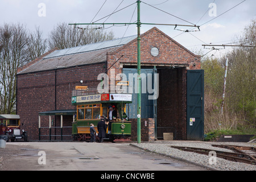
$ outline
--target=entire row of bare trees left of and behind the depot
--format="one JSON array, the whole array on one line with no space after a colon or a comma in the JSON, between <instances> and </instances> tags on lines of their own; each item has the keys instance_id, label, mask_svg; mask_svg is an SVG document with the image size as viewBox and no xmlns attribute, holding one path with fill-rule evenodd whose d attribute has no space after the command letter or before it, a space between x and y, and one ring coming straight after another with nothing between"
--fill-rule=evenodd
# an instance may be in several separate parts
<instances>
[{"instance_id":1,"label":"entire row of bare trees left of and behind the depot","mask_svg":"<svg viewBox=\"0 0 256 182\"><path fill-rule=\"evenodd\" d=\"M0 114L15 112L16 73L19 67L43 55L47 49L64 49L114 38L112 31L81 30L66 23L59 23L48 40L43 39L42 34L39 27L29 32L19 23L0 26Z\"/></svg>"}]
</instances>

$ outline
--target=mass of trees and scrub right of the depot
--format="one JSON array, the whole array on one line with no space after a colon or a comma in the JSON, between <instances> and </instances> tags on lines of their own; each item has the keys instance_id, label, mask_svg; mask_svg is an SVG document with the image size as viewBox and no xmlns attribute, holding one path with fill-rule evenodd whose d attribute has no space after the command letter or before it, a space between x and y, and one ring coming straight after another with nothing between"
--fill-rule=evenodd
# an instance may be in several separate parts
<instances>
[{"instance_id":1,"label":"mass of trees and scrub right of the depot","mask_svg":"<svg viewBox=\"0 0 256 182\"><path fill-rule=\"evenodd\" d=\"M256 46L256 19L245 27L235 44ZM224 113L220 100L224 84L224 68L228 56L228 74ZM256 48L236 47L220 60L206 59L205 72L205 131L215 129L256 128Z\"/></svg>"}]
</instances>

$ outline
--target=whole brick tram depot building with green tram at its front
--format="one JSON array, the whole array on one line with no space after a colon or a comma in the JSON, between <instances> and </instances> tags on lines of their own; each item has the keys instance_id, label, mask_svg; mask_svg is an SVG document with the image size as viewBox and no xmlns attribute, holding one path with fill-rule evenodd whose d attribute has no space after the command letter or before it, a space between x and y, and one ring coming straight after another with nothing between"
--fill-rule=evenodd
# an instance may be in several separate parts
<instances>
[{"instance_id":1,"label":"whole brick tram depot building with green tram at its front","mask_svg":"<svg viewBox=\"0 0 256 182\"><path fill-rule=\"evenodd\" d=\"M106 93L97 90L102 73L110 79ZM127 81L116 80L120 73ZM117 118L108 125L108 137L136 141L137 92L111 92L113 83L134 85L136 78L129 74L135 73L137 35L55 48L18 68L16 114L28 140L87 140L90 123L97 127L100 115L109 117L114 106ZM141 35L141 73L144 81L152 84L150 88L158 86L157 99L148 99L152 96L148 89L141 96L141 140L163 139L163 133L172 133L175 140L202 139L204 75L200 56L154 27ZM158 82L154 81L156 74Z\"/></svg>"}]
</instances>

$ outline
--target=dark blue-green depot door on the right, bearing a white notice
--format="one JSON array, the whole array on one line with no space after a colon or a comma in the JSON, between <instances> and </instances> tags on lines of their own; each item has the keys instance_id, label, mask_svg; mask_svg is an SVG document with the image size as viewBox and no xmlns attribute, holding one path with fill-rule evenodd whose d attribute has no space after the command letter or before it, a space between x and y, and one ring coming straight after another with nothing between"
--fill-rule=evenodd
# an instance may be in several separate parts
<instances>
[{"instance_id":1,"label":"dark blue-green depot door on the right, bearing a white notice","mask_svg":"<svg viewBox=\"0 0 256 182\"><path fill-rule=\"evenodd\" d=\"M204 139L204 70L187 71L187 139Z\"/></svg>"}]
</instances>

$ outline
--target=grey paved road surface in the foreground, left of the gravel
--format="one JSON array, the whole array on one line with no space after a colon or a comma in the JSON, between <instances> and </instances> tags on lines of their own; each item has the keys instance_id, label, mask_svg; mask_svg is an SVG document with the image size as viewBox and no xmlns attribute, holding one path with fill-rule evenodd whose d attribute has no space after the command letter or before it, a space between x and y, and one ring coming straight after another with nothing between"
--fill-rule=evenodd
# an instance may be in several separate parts
<instances>
[{"instance_id":1,"label":"grey paved road surface in the foreground, left of the gravel","mask_svg":"<svg viewBox=\"0 0 256 182\"><path fill-rule=\"evenodd\" d=\"M0 148L0 171L191 171L206 170L151 154L129 143L13 142ZM46 162L46 164L44 164Z\"/></svg>"}]
</instances>

